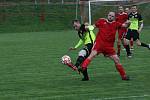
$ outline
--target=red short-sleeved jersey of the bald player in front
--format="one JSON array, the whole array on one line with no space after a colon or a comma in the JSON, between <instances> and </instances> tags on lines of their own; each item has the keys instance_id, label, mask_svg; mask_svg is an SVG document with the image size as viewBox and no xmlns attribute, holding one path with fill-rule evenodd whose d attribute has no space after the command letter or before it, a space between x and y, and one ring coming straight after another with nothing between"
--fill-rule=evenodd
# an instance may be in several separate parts
<instances>
[{"instance_id":1,"label":"red short-sleeved jersey of the bald player in front","mask_svg":"<svg viewBox=\"0 0 150 100\"><path fill-rule=\"evenodd\" d=\"M112 21L109 22L107 19L101 18L95 23L99 32L96 36L96 41L103 43L105 46L114 46L116 31L122 26L121 23Z\"/></svg>"}]
</instances>

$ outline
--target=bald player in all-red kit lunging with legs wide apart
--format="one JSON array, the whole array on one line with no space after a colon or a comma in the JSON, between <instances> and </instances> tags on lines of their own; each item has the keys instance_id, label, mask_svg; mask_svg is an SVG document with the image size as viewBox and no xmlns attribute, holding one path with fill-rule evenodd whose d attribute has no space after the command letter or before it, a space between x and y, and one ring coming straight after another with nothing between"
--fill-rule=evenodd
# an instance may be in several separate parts
<instances>
[{"instance_id":1,"label":"bald player in all-red kit lunging with legs wide apart","mask_svg":"<svg viewBox=\"0 0 150 100\"><path fill-rule=\"evenodd\" d=\"M121 75L122 80L129 80L123 66L120 63L114 49L115 35L119 27L128 27L129 22L121 24L115 21L115 13L109 12L107 19L100 18L95 26L99 29L97 33L95 43L93 45L91 54L82 63L82 70L85 70L90 64L91 60L97 55L102 53L104 56L109 57L115 63L116 69Z\"/></svg>"}]
</instances>

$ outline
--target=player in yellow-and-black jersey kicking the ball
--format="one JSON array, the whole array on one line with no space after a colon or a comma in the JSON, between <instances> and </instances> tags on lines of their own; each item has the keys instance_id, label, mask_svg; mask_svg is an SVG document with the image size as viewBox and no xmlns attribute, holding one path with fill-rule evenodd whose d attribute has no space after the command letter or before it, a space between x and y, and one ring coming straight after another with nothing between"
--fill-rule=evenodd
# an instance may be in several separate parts
<instances>
[{"instance_id":1,"label":"player in yellow-and-black jersey kicking the ball","mask_svg":"<svg viewBox=\"0 0 150 100\"><path fill-rule=\"evenodd\" d=\"M95 34L93 32L94 26L89 25L88 23L80 24L79 20L73 20L73 27L78 32L80 39L79 42L74 47L69 48L69 50L76 50L81 46L83 46L83 48L78 53L76 63L74 65L72 63L67 65L73 69L77 68L79 70L79 66L91 53L91 49L95 41ZM87 69L84 70L82 74L84 76L82 79L83 81L89 80Z\"/></svg>"}]
</instances>

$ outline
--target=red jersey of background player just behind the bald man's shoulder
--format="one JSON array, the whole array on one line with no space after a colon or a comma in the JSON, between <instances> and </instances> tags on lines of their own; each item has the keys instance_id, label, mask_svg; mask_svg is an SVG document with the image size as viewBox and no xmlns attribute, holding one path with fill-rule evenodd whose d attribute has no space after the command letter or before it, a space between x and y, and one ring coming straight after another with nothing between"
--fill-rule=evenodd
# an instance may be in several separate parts
<instances>
[{"instance_id":1,"label":"red jersey of background player just behind the bald man's shoulder","mask_svg":"<svg viewBox=\"0 0 150 100\"><path fill-rule=\"evenodd\" d=\"M116 14L116 21L123 24L124 22L126 22L128 19L128 14L125 12L122 13L117 13Z\"/></svg>"}]
</instances>

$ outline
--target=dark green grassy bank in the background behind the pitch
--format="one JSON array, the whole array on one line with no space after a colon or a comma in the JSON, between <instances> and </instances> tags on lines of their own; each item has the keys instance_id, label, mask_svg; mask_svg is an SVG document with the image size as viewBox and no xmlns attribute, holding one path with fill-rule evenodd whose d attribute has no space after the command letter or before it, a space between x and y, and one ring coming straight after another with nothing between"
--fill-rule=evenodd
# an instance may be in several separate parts
<instances>
[{"instance_id":1,"label":"dark green grassy bank in the background behind the pitch","mask_svg":"<svg viewBox=\"0 0 150 100\"><path fill-rule=\"evenodd\" d=\"M35 0L4 0L0 3L0 32L52 31L71 29L71 21L80 17L80 7L76 12L76 0L65 0L48 4L47 0L35 3ZM18 2L17 2L18 1ZM25 2L26 1L26 2ZM52 0L51 0L52 2ZM136 2L137 3L137 2ZM86 5L85 7L88 7ZM109 10L117 10L115 6L91 5L92 22L105 17ZM150 24L150 3L140 4L144 24ZM77 16L76 16L77 15Z\"/></svg>"}]
</instances>

